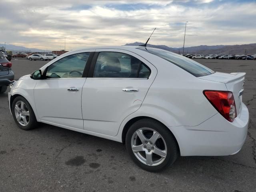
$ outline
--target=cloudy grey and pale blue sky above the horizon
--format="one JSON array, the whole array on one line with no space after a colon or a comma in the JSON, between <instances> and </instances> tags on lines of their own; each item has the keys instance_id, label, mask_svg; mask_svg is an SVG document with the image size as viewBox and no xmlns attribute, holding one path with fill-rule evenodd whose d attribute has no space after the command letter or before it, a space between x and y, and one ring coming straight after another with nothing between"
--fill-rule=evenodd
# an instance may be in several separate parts
<instances>
[{"instance_id":1,"label":"cloudy grey and pale blue sky above the horizon","mask_svg":"<svg viewBox=\"0 0 256 192\"><path fill-rule=\"evenodd\" d=\"M256 0L0 0L0 43L48 50L256 43Z\"/></svg>"}]
</instances>

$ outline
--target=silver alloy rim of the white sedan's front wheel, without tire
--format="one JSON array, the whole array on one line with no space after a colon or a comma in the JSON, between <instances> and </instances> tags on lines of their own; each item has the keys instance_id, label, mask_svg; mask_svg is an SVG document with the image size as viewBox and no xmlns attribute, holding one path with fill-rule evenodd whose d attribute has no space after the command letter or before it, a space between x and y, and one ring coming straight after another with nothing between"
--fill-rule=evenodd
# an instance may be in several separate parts
<instances>
[{"instance_id":1,"label":"silver alloy rim of the white sedan's front wheel, without tire","mask_svg":"<svg viewBox=\"0 0 256 192\"><path fill-rule=\"evenodd\" d=\"M14 113L16 120L22 126L27 126L30 120L30 114L28 110L28 106L23 101L18 101L15 104Z\"/></svg>"}]
</instances>

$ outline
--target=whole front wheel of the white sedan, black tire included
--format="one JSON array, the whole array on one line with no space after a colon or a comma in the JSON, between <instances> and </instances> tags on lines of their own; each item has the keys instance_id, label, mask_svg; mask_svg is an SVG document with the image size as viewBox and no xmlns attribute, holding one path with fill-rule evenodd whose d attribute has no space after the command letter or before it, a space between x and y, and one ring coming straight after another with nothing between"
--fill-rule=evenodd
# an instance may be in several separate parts
<instances>
[{"instance_id":1,"label":"whole front wheel of the white sedan, black tire included","mask_svg":"<svg viewBox=\"0 0 256 192\"><path fill-rule=\"evenodd\" d=\"M23 107L21 106L22 103L23 103ZM16 105L17 105L19 111L15 107ZM23 110L23 112L21 112L20 110ZM29 114L29 116L26 115L25 113ZM12 116L14 118L14 121L18 125L18 127L23 130L34 129L38 126L38 122L36 120L36 116L34 114L32 107L30 106L28 101L22 96L18 96L13 100ZM16 116L17 116L17 118L16 118ZM20 117L20 122L18 121L19 117ZM23 122L23 125L22 125L22 122Z\"/></svg>"}]
</instances>

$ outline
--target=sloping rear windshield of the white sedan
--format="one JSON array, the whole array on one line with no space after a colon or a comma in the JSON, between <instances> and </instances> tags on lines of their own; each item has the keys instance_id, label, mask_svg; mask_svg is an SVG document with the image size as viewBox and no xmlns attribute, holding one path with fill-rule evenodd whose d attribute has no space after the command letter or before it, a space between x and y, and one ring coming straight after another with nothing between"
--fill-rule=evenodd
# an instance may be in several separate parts
<instances>
[{"instance_id":1,"label":"sloping rear windshield of the white sedan","mask_svg":"<svg viewBox=\"0 0 256 192\"><path fill-rule=\"evenodd\" d=\"M149 52L158 57L161 57L171 62L172 64L175 64L176 66L184 69L185 71L189 72L190 74L196 77L206 76L214 73L213 70L207 68L206 66L203 66L198 62L195 62L192 59L186 58L184 56L180 56L178 54L175 54L166 50L148 48L148 47L138 48L138 49Z\"/></svg>"}]
</instances>

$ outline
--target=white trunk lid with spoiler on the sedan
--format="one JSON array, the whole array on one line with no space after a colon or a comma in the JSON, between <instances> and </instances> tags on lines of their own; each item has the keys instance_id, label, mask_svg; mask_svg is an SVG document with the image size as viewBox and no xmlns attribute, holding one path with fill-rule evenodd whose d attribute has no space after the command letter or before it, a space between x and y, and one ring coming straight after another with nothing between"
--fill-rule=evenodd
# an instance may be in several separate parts
<instances>
[{"instance_id":1,"label":"white trunk lid with spoiler on the sedan","mask_svg":"<svg viewBox=\"0 0 256 192\"><path fill-rule=\"evenodd\" d=\"M241 73L221 73L215 72L213 74L198 77L200 79L222 82L226 84L226 88L228 91L233 93L235 103L236 103L236 114L240 113L240 108L242 104L242 94L244 92L244 72Z\"/></svg>"}]
</instances>

